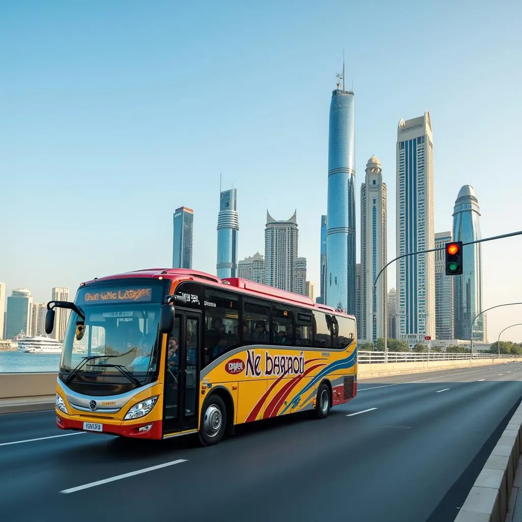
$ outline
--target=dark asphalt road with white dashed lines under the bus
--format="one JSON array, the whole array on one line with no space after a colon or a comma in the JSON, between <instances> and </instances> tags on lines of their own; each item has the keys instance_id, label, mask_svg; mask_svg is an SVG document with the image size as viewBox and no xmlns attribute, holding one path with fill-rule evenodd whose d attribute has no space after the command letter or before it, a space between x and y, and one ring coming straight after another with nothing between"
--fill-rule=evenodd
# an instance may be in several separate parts
<instances>
[{"instance_id":1,"label":"dark asphalt road with white dashed lines under the bus","mask_svg":"<svg viewBox=\"0 0 522 522\"><path fill-rule=\"evenodd\" d=\"M361 379L325 420L253 423L208 448L64 436L53 411L5 414L0 519L450 522L521 379L521 363Z\"/></svg>"}]
</instances>

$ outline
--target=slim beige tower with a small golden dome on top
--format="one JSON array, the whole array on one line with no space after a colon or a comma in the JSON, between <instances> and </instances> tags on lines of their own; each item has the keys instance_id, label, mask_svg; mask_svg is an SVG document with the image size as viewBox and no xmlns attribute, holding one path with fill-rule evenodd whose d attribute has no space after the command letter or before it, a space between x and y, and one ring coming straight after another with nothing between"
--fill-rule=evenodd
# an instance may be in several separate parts
<instances>
[{"instance_id":1,"label":"slim beige tower with a small golden dome on top","mask_svg":"<svg viewBox=\"0 0 522 522\"><path fill-rule=\"evenodd\" d=\"M372 156L361 184L361 336L374 343L385 335L386 271L373 283L386 265L386 201L381 162Z\"/></svg>"}]
</instances>

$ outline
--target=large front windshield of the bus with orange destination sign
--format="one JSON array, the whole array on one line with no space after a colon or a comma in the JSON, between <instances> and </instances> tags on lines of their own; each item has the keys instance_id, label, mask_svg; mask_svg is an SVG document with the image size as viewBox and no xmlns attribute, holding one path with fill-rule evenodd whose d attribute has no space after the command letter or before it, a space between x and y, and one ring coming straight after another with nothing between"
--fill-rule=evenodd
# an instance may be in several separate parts
<instances>
[{"instance_id":1,"label":"large front windshield of the bus with orange destination sign","mask_svg":"<svg viewBox=\"0 0 522 522\"><path fill-rule=\"evenodd\" d=\"M75 304L84 312L85 323L71 313L61 378L137 386L157 377L163 289L151 281L80 288Z\"/></svg>"}]
</instances>

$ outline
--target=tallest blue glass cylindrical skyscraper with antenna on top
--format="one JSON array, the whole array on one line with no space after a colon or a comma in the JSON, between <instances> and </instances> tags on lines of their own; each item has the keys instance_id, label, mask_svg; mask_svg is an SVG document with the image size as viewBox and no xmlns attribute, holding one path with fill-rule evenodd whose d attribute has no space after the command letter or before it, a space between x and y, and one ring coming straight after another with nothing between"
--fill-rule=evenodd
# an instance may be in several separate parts
<instances>
[{"instance_id":1,"label":"tallest blue glass cylindrical skyscraper with antenna on top","mask_svg":"<svg viewBox=\"0 0 522 522\"><path fill-rule=\"evenodd\" d=\"M355 122L343 66L332 92L328 131L325 303L355 314Z\"/></svg>"}]
</instances>

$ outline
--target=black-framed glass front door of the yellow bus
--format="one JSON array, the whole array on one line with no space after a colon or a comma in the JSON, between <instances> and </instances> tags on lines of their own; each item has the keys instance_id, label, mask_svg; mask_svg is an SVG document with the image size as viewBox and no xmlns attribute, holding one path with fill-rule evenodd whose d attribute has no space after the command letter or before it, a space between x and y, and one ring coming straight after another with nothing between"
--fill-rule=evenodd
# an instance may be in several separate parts
<instances>
[{"instance_id":1,"label":"black-framed glass front door of the yellow bus","mask_svg":"<svg viewBox=\"0 0 522 522\"><path fill-rule=\"evenodd\" d=\"M197 429L201 314L176 309L167 341L163 435Z\"/></svg>"}]
</instances>

